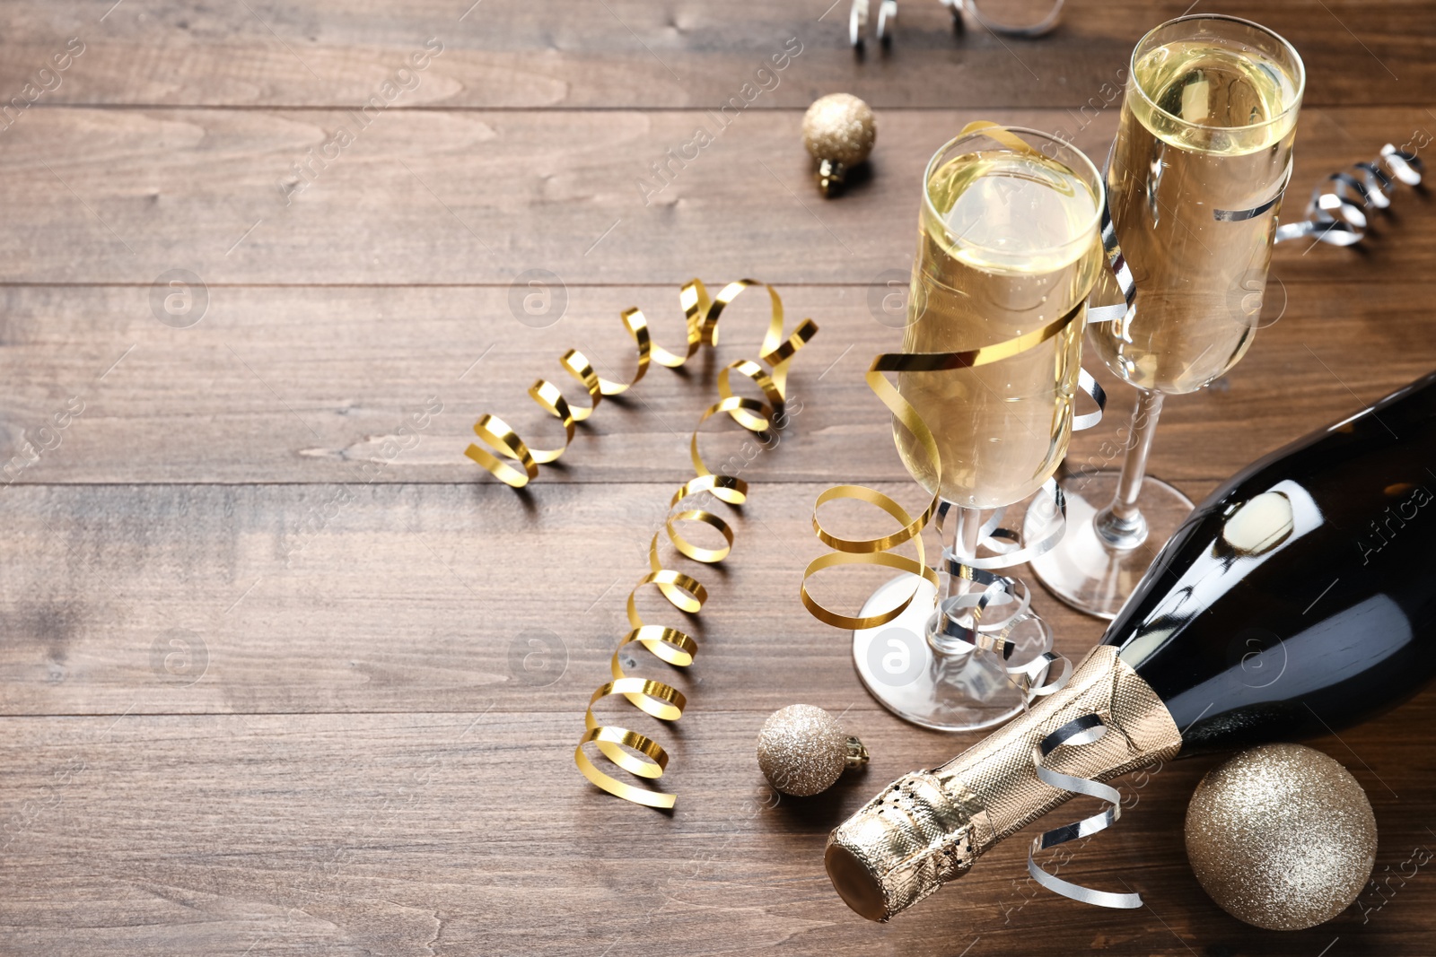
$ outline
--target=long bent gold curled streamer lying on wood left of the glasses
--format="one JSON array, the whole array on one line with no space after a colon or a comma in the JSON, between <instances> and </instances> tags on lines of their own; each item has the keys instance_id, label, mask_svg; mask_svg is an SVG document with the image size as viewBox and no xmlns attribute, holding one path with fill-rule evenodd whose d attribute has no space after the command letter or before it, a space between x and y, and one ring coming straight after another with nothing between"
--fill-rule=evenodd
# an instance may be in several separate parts
<instances>
[{"instance_id":1,"label":"long bent gold curled streamer lying on wood left of the glasses","mask_svg":"<svg viewBox=\"0 0 1436 957\"><path fill-rule=\"evenodd\" d=\"M668 752L663 750L662 745L646 735L640 735L626 727L600 725L599 719L593 715L593 706L605 697L620 694L628 699L630 704L659 720L675 722L682 717L684 707L688 704L682 692L663 682L629 677L623 671L620 653L628 644L640 644L656 659L675 667L688 667L692 664L694 656L698 653L698 643L694 641L692 636L681 631L679 628L645 623L638 611L638 593L640 588L653 587L658 588L669 604L679 611L696 614L702 610L704 603L708 600L708 591L696 578L663 567L658 552L659 538L666 535L668 541L672 542L673 548L676 548L679 554L694 561L709 565L722 561L732 550L732 527L709 511L684 505L688 498L704 492L728 505L742 505L748 498L748 484L734 475L715 473L709 469L698 449L698 433L702 429L702 425L715 415L727 415L748 432L761 433L767 430L774 419L783 413L788 362L791 362L793 356L810 339L813 339L813 334L817 333L817 324L814 324L810 319L804 319L798 323L793 334L784 337L783 300L778 298L777 291L771 286L758 283L757 280L738 280L737 283L725 286L718 293L717 298L709 300L708 290L704 288L704 284L699 280L692 280L682 288L684 313L688 320L686 354L676 356L653 346L648 334L648 323L643 319L643 314L636 308L630 308L623 313L623 324L633 337L639 356L638 373L629 383L619 385L593 376L592 367L589 367L583 354L576 350L569 350L564 353L560 363L570 372L570 374L579 379L589 392L590 405L580 410L583 415L574 415L573 407L564 402L557 387L543 379L534 383L534 386L528 390L528 395L534 397L534 402L564 423L564 432L567 433L569 440L564 442L563 448L549 451L530 449L517 435L513 433L511 429L508 429L507 425L504 425L501 419L488 415L478 420L474 430L481 439L484 439L490 449L498 452L510 462L518 462L523 466L523 471L520 472L504 459L493 455L490 451L472 445L468 448L468 456L493 472L500 481L507 482L514 488L523 488L530 479L537 478L538 463L551 462L563 453L569 442L573 439L573 422L582 420L592 413L602 396L617 395L642 379L651 360L671 369L678 369L698 352L699 346L717 346L718 317L722 314L722 310L728 306L728 303L751 286L761 286L768 290L771 304L771 317L768 320L768 330L763 337L761 354L758 356L758 362L740 359L729 363L718 373L719 399L714 405L708 406L702 418L699 418L689 442L694 478L684 482L684 485L673 492L673 496L668 504L668 518L663 521L663 529L655 534L652 542L649 542L649 571L639 578L636 585L633 585L628 598L628 620L630 631L619 640L617 647L613 650L613 657L609 661L609 670L613 674L613 680L600 684L589 697L589 707L583 716L584 732L579 739L577 748L573 749L573 762L577 765L579 772L584 778L612 795L623 798L625 801L632 801L633 803L646 805L649 808L672 808L676 801L676 795L662 791L649 791L648 788L636 788L613 778L609 773L605 773L597 765L593 763L587 752L584 752L584 745L593 743L599 749L599 753L609 762L617 765L635 778L646 778L649 781L663 776L663 772L668 769ZM757 399L747 399L734 395L731 385L734 373L752 382L763 392L764 400L760 402ZM704 548L694 544L679 532L679 525L682 522L699 522L702 525L708 525L722 535L725 545L722 548Z\"/></svg>"}]
</instances>

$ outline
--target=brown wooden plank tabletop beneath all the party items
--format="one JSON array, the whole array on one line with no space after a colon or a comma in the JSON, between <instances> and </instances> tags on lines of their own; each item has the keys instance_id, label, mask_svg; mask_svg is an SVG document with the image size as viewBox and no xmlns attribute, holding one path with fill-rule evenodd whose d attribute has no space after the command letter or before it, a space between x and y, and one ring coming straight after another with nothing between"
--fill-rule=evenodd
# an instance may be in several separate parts
<instances>
[{"instance_id":1,"label":"brown wooden plank tabletop beneath all the party items","mask_svg":"<svg viewBox=\"0 0 1436 957\"><path fill-rule=\"evenodd\" d=\"M903 0L890 53L854 59L829 1L0 10L0 95L19 98L0 131L0 953L1432 953L1436 877L1410 877L1436 847L1430 693L1315 742L1381 834L1381 888L1324 927L1258 931L1200 891L1180 824L1209 760L1127 781L1136 806L1063 871L1127 882L1140 911L1037 892L1021 841L890 925L833 894L827 831L976 740L877 707L847 636L797 601L820 489L915 491L860 372L896 341L870 303L910 265L922 166L978 118L1101 155L1103 85L1185 4L1073 0L1024 42L954 37L935 1ZM1430 0L1225 11L1307 57L1292 207L1436 128ZM880 135L872 175L823 201L798 126L834 90ZM668 159L698 128L711 145ZM1403 189L1363 250L1281 247L1285 313L1169 403L1153 472L1205 495L1436 366L1430 207ZM620 310L672 344L692 275L771 281L821 331L794 363L801 412L744 466L732 557L678 565L711 593L695 664L633 656L691 699L656 732L679 795L661 814L587 785L572 749L761 304L734 306L717 356L606 402L526 492L464 448L484 412L556 436L530 382L564 377L570 346L628 374ZM1124 419L1130 392L1104 382L1113 415L1074 461ZM705 442L741 453L731 430ZM1060 650L1101 631L1037 603ZM774 803L752 742L794 702L843 713L873 760Z\"/></svg>"}]
</instances>

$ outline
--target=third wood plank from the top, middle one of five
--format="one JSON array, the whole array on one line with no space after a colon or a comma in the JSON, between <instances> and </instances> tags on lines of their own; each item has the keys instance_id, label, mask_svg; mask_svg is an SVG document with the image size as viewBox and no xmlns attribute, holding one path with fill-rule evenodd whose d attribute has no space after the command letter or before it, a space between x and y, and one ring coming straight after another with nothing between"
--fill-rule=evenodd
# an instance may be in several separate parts
<instances>
[{"instance_id":1,"label":"third wood plank from the top, middle one of five","mask_svg":"<svg viewBox=\"0 0 1436 957\"><path fill-rule=\"evenodd\" d=\"M1307 258L1328 255L1344 254ZM1300 254L1284 253L1278 277L1292 258ZM899 291L903 275L890 275ZM780 293L790 327L804 316L821 327L793 364L781 451L758 456L731 428L705 438L704 455L715 466L738 456L728 468L758 458L758 482L903 481L886 412L862 379L872 356L899 346L903 311L883 311L890 290ZM493 484L464 456L474 422L491 412L538 446L561 443L557 422L524 390L544 376L582 395L559 366L564 350L579 347L605 374L628 377L633 347L617 317L630 306L645 308L659 341L682 340L676 287L569 287L563 317L543 329L516 320L510 290L491 287L214 287L190 329L157 321L144 286L10 287L3 296L0 481L16 485ZM1432 298L1430 286L1410 278L1393 287L1274 283L1268 319L1279 321L1213 389L1167 403L1156 473L1205 491L1432 370ZM557 303L556 293L550 307ZM688 438L715 400L717 372L755 354L765 308L761 291L745 293L722 320L715 356L695 357L691 374L655 366L629 397L605 402L561 468L543 468L540 485L685 481ZM1110 461L1104 443L1129 415L1132 390L1104 370L1100 379L1109 418L1076 436L1074 466ZM83 412L57 435L42 432L72 397ZM439 410L426 415L426 405ZM26 465L26 449L46 440L53 448Z\"/></svg>"}]
</instances>

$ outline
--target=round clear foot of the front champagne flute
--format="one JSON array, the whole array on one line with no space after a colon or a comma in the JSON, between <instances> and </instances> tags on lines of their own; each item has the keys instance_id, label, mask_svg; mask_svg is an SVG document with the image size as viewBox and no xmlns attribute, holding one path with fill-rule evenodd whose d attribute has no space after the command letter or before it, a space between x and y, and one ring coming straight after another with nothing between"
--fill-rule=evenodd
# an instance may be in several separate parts
<instances>
[{"instance_id":1,"label":"round clear foot of the front champagne flute","mask_svg":"<svg viewBox=\"0 0 1436 957\"><path fill-rule=\"evenodd\" d=\"M1021 713L1025 696L997 654L933 651L926 628L938 603L936 590L926 580L902 575L889 581L873 593L862 614L898 605L912 591L913 581L918 593L898 618L853 631L853 663L867 692L898 717L943 732L992 727ZM1024 647L1025 641L1018 641L1014 661L1032 653Z\"/></svg>"}]
</instances>

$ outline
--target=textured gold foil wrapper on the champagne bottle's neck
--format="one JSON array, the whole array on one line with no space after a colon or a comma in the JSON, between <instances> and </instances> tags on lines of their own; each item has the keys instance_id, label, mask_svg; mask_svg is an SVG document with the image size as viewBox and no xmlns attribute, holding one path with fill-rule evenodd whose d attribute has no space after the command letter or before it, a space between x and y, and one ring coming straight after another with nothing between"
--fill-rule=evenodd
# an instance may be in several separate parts
<instances>
[{"instance_id":1,"label":"textured gold foil wrapper on the champagne bottle's neck","mask_svg":"<svg viewBox=\"0 0 1436 957\"><path fill-rule=\"evenodd\" d=\"M1101 732L1083 735L1099 726ZM946 765L903 775L839 825L829 836L829 875L849 907L887 921L1077 793L1054 781L1104 782L1167 759L1180 746L1182 735L1156 692L1116 647L1097 646L1057 694ZM1034 847L1060 842L1043 835Z\"/></svg>"}]
</instances>

